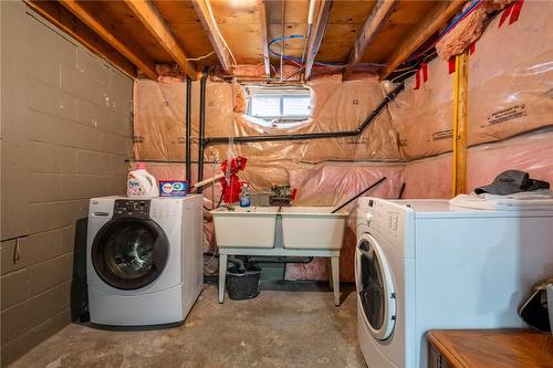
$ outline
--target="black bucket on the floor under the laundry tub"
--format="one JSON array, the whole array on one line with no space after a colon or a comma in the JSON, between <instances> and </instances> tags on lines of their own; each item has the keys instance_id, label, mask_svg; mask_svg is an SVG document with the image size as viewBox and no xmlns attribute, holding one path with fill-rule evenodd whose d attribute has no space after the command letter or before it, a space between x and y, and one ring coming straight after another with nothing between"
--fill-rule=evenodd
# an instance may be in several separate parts
<instances>
[{"instance_id":1,"label":"black bucket on the floor under the laundry tub","mask_svg":"<svg viewBox=\"0 0 553 368\"><path fill-rule=\"evenodd\" d=\"M229 297L233 301L254 298L259 295L260 277L261 269L254 263L234 263L227 270L227 291Z\"/></svg>"}]
</instances>

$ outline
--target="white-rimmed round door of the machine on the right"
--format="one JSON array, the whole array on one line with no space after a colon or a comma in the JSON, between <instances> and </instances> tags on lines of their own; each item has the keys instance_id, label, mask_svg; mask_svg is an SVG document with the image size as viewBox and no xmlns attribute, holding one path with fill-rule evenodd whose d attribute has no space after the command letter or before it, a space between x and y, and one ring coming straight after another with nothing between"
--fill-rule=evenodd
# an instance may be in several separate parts
<instances>
[{"instance_id":1,"label":"white-rimmed round door of the machine on the right","mask_svg":"<svg viewBox=\"0 0 553 368\"><path fill-rule=\"evenodd\" d=\"M396 324L396 293L382 248L368 233L357 241L355 283L368 329L376 339L386 340Z\"/></svg>"}]
</instances>

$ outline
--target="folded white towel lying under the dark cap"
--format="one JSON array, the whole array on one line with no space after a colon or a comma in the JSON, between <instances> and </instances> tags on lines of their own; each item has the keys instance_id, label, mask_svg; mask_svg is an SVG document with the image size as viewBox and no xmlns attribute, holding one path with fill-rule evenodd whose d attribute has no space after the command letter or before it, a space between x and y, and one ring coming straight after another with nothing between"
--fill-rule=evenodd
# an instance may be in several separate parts
<instances>
[{"instance_id":1,"label":"folded white towel lying under the dark cap","mask_svg":"<svg viewBox=\"0 0 553 368\"><path fill-rule=\"evenodd\" d=\"M480 210L502 211L553 211L553 191L543 189L525 191L509 196L459 194L449 201L449 204Z\"/></svg>"}]
</instances>

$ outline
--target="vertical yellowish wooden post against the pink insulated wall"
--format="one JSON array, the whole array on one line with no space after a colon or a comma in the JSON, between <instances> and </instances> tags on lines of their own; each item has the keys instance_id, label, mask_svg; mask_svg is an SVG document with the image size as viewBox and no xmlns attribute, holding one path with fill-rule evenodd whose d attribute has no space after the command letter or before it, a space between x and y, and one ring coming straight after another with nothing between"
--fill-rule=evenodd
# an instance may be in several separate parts
<instances>
[{"instance_id":1,"label":"vertical yellowish wooden post against the pink insulated wall","mask_svg":"<svg viewBox=\"0 0 553 368\"><path fill-rule=\"evenodd\" d=\"M469 53L456 56L453 106L452 197L467 193L467 104L469 85Z\"/></svg>"}]
</instances>

